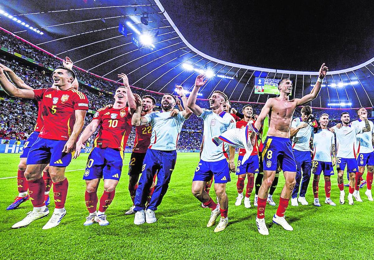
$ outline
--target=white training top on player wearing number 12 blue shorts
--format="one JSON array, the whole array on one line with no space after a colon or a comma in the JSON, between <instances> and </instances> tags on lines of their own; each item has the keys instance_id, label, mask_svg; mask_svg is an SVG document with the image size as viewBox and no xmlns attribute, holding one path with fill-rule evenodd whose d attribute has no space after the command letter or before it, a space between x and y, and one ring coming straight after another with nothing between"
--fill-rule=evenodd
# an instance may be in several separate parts
<instances>
[{"instance_id":1,"label":"white training top on player wearing number 12 blue shorts","mask_svg":"<svg viewBox=\"0 0 374 260\"><path fill-rule=\"evenodd\" d=\"M328 129L318 129L313 137L313 160L331 163L332 145L335 144L334 133Z\"/></svg>"}]
</instances>

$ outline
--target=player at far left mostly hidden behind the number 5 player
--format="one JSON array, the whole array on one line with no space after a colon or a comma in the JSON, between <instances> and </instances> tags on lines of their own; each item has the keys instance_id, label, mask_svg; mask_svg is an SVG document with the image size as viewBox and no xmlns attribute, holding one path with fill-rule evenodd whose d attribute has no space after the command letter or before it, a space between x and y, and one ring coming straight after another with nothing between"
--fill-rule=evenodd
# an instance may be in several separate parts
<instances>
[{"instance_id":1,"label":"player at far left mostly hidden behind the number 5 player","mask_svg":"<svg viewBox=\"0 0 374 260\"><path fill-rule=\"evenodd\" d=\"M29 89L33 90L32 87L28 86L20 77L18 77L12 69L8 68L7 66L0 64L0 67L3 68L3 71L6 72L10 80L21 89ZM19 157L19 164L18 164L18 172L17 172L17 188L18 188L18 195L15 197L12 204L10 204L6 210L14 210L19 207L23 202L27 201L30 196L28 195L28 185L25 178L25 170L26 170L26 160L28 152L30 151L31 146L36 141L40 130L43 128L43 120L42 120L42 105L41 101L38 102L38 115L36 119L36 124L34 127L34 131L30 134L27 138L26 142L24 143L23 150ZM52 181L50 179L50 175L48 172L48 166L43 170L43 180L45 182L45 203L46 206L50 203L49 198L49 190L52 185Z\"/></svg>"}]
</instances>

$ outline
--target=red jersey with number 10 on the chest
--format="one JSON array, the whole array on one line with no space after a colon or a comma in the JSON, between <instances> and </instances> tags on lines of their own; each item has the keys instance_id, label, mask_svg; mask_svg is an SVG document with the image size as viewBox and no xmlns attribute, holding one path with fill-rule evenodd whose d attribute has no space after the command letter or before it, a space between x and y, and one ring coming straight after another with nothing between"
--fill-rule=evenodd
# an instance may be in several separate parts
<instances>
[{"instance_id":1,"label":"red jersey with number 10 on the chest","mask_svg":"<svg viewBox=\"0 0 374 260\"><path fill-rule=\"evenodd\" d=\"M100 121L99 133L93 147L125 150L131 132L131 115L129 108L100 108L93 119Z\"/></svg>"}]
</instances>

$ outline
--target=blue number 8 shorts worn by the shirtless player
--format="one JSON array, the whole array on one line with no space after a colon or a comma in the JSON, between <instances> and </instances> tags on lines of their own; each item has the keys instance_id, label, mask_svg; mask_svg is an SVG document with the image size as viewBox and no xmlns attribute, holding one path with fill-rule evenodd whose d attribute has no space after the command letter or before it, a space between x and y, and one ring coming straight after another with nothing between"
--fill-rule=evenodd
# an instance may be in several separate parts
<instances>
[{"instance_id":1,"label":"blue number 8 shorts worn by the shirtless player","mask_svg":"<svg viewBox=\"0 0 374 260\"><path fill-rule=\"evenodd\" d=\"M277 170L277 161L282 171L296 172L295 157L292 153L292 143L289 138L268 136L262 152L264 171Z\"/></svg>"}]
</instances>

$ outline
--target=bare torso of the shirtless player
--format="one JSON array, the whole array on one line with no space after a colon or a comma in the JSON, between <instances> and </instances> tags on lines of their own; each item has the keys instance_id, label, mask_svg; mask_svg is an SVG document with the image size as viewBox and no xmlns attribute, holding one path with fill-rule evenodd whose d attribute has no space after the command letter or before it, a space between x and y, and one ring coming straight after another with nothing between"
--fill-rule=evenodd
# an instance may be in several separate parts
<instances>
[{"instance_id":1,"label":"bare torso of the shirtless player","mask_svg":"<svg viewBox=\"0 0 374 260\"><path fill-rule=\"evenodd\" d=\"M297 100L281 100L280 97L272 98L270 103L271 120L268 136L290 137L292 116L294 115Z\"/></svg>"}]
</instances>

